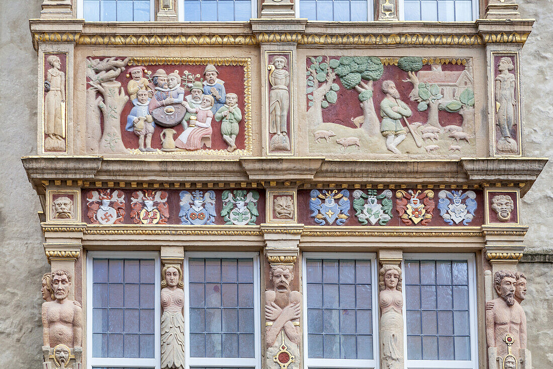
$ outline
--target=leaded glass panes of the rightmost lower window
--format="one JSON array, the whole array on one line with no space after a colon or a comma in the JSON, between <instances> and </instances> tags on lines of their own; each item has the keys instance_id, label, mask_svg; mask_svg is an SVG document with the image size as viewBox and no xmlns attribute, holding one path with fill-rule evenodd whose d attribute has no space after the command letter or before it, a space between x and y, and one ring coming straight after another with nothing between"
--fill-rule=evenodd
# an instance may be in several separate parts
<instances>
[{"instance_id":1,"label":"leaded glass panes of the rightmost lower window","mask_svg":"<svg viewBox=\"0 0 553 369\"><path fill-rule=\"evenodd\" d=\"M466 261L405 262L408 358L471 360Z\"/></svg>"}]
</instances>

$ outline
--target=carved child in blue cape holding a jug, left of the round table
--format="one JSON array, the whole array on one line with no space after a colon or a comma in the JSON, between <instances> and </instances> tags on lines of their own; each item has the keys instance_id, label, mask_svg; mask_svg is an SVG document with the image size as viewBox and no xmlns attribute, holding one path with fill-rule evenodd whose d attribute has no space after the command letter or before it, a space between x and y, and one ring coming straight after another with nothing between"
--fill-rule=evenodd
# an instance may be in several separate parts
<instances>
[{"instance_id":1,"label":"carved child in blue cape holding a jug, left of the round table","mask_svg":"<svg viewBox=\"0 0 553 369\"><path fill-rule=\"evenodd\" d=\"M127 116L125 130L134 131L134 134L138 136L138 150L140 151L156 151L155 148L152 148L152 135L155 126L149 111L150 100L147 90L138 90L137 98L133 100L134 106Z\"/></svg>"}]
</instances>

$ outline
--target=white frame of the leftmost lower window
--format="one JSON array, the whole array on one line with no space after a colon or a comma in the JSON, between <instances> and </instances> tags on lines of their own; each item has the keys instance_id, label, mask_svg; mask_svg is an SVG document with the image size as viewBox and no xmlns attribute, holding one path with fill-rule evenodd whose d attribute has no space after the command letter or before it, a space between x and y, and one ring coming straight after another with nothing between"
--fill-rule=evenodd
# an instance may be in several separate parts
<instances>
[{"instance_id":1,"label":"white frame of the leftmost lower window","mask_svg":"<svg viewBox=\"0 0 553 369\"><path fill-rule=\"evenodd\" d=\"M92 357L92 278L93 259L154 259L154 358ZM160 258L158 252L149 251L90 251L86 255L86 367L136 367L160 369L161 366L161 284Z\"/></svg>"}]
</instances>

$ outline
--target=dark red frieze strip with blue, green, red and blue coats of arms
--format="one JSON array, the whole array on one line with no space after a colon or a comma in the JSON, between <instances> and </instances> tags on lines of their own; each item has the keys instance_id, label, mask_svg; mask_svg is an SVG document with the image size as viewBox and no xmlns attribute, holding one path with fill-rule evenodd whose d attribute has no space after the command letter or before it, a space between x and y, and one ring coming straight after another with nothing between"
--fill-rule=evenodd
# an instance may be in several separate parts
<instances>
[{"instance_id":1,"label":"dark red frieze strip with blue, green, red and blue coats of arms","mask_svg":"<svg viewBox=\"0 0 553 369\"><path fill-rule=\"evenodd\" d=\"M443 205L440 203L442 198L435 196L440 191L435 189L300 189L298 222L306 225L369 227L463 227L483 224L484 196L481 190L441 191L450 193L452 197L450 199L446 195ZM440 212L444 211L443 216L435 212L436 206ZM309 213L301 210L307 207Z\"/></svg>"}]
</instances>

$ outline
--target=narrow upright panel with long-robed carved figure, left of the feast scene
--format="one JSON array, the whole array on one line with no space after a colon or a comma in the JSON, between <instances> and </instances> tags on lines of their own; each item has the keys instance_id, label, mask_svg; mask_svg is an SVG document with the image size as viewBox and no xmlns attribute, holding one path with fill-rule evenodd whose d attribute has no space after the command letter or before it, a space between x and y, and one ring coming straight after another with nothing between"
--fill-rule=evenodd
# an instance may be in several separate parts
<instances>
[{"instance_id":1,"label":"narrow upright panel with long-robed carved figure, left of the feast scene","mask_svg":"<svg viewBox=\"0 0 553 369\"><path fill-rule=\"evenodd\" d=\"M67 152L67 54L44 54L43 149Z\"/></svg>"}]
</instances>

